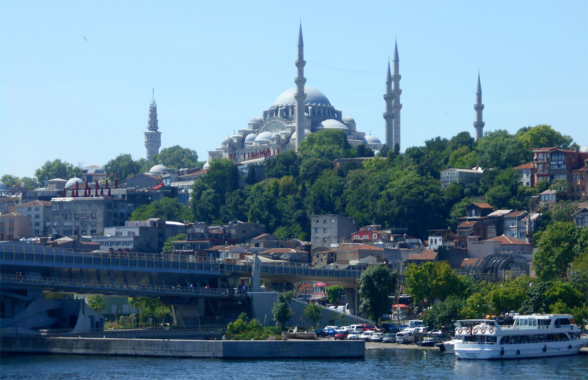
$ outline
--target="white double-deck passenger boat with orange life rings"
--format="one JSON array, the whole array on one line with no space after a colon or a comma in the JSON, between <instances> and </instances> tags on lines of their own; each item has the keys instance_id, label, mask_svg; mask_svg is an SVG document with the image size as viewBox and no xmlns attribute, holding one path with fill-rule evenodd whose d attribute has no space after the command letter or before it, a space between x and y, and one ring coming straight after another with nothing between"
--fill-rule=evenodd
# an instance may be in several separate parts
<instances>
[{"instance_id":1,"label":"white double-deck passenger boat with orange life rings","mask_svg":"<svg viewBox=\"0 0 588 380\"><path fill-rule=\"evenodd\" d=\"M588 344L588 336L570 314L533 314L515 315L512 325L457 321L453 342L459 359L500 360L575 355Z\"/></svg>"}]
</instances>

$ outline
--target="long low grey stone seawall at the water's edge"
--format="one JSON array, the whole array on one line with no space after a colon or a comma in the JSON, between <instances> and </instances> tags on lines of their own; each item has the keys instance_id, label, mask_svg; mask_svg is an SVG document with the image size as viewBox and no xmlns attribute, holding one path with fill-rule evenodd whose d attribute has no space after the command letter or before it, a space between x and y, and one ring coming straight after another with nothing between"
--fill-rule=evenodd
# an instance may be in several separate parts
<instances>
[{"instance_id":1,"label":"long low grey stone seawall at the water's edge","mask_svg":"<svg viewBox=\"0 0 588 380\"><path fill-rule=\"evenodd\" d=\"M365 342L1 337L0 352L217 359L364 358Z\"/></svg>"}]
</instances>

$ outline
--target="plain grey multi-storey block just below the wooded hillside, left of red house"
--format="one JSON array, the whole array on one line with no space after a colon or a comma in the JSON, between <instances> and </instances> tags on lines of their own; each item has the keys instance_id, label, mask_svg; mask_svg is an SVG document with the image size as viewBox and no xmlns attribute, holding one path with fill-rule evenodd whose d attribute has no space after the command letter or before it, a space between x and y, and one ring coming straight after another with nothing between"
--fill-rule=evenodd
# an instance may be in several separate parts
<instances>
[{"instance_id":1,"label":"plain grey multi-storey block just below the wooded hillside, left of red house","mask_svg":"<svg viewBox=\"0 0 588 380\"><path fill-rule=\"evenodd\" d=\"M313 215L310 217L310 243L312 250L325 247L330 248L331 244L338 244L340 240L358 230L358 224L352 218L342 215Z\"/></svg>"}]
</instances>

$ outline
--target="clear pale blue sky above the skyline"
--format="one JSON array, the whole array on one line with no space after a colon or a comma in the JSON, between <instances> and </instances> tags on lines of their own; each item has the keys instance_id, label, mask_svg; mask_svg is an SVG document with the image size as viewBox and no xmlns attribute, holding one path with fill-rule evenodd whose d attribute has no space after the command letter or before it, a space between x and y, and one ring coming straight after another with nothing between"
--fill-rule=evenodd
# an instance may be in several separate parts
<instances>
[{"instance_id":1,"label":"clear pale blue sky above the skyline","mask_svg":"<svg viewBox=\"0 0 588 380\"><path fill-rule=\"evenodd\" d=\"M473 121L552 125L588 144L588 2L0 2L0 174L46 160L145 157L151 89L162 148L201 159L305 76L384 139L398 38L403 149ZM86 36L88 41L82 39Z\"/></svg>"}]
</instances>

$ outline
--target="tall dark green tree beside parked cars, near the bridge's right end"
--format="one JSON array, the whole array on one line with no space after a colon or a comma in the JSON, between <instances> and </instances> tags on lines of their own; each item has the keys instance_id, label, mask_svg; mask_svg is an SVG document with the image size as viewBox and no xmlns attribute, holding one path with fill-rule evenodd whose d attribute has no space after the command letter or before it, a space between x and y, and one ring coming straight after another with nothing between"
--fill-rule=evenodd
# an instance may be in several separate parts
<instances>
[{"instance_id":1,"label":"tall dark green tree beside parked cars, near the bridge's right end","mask_svg":"<svg viewBox=\"0 0 588 380\"><path fill-rule=\"evenodd\" d=\"M358 284L362 300L360 310L370 320L379 322L382 314L390 312L388 296L396 287L396 273L390 272L385 265L372 264L362 272Z\"/></svg>"}]
</instances>

